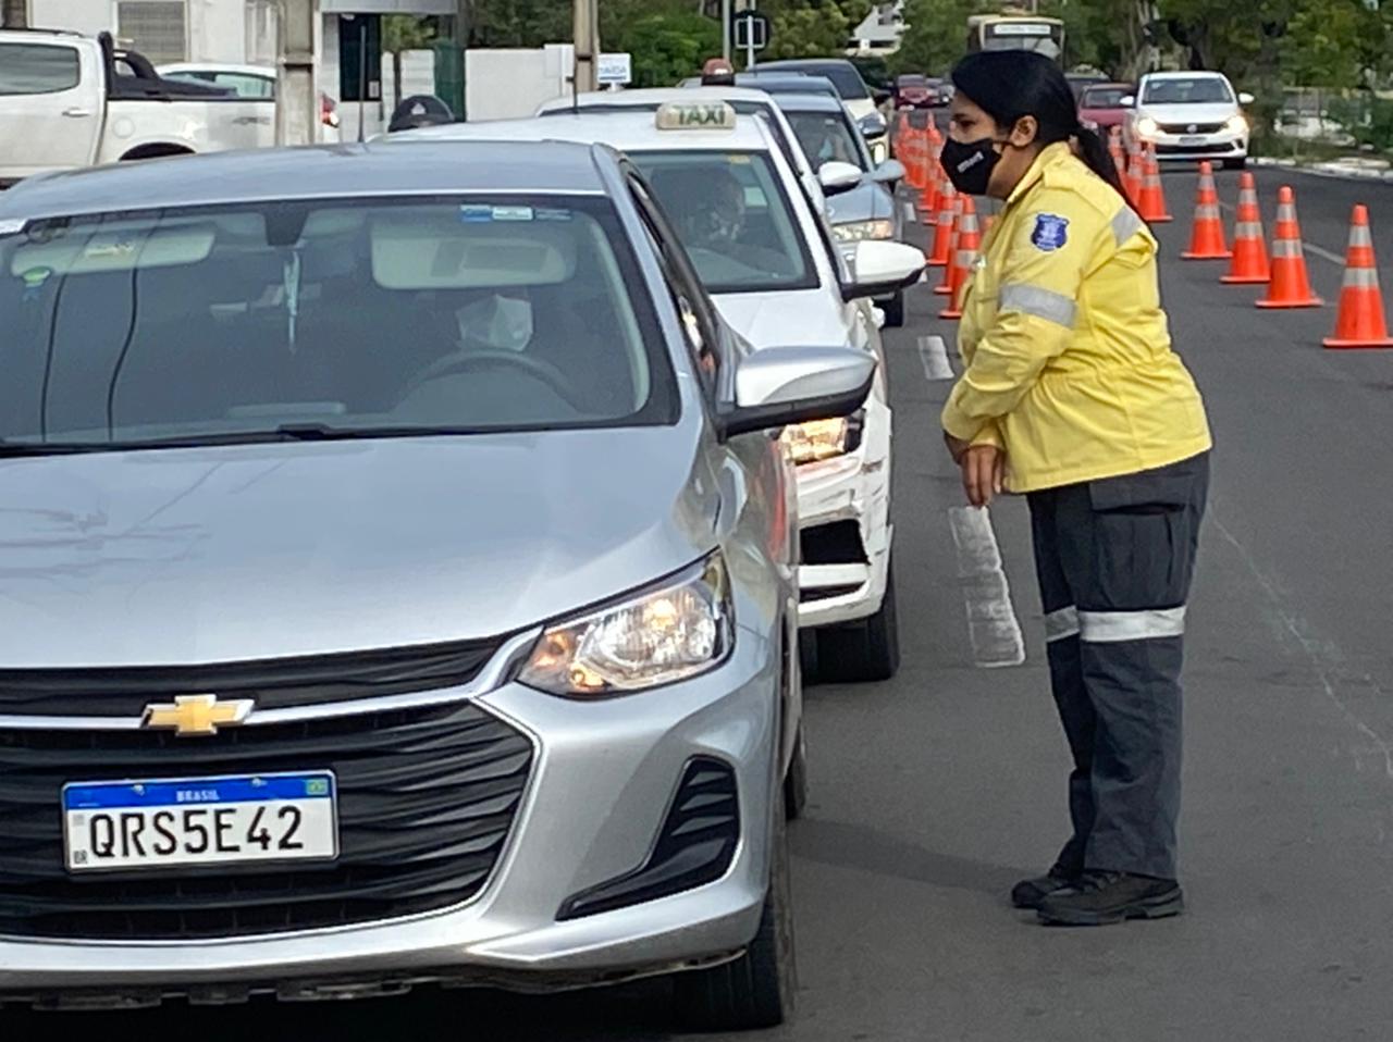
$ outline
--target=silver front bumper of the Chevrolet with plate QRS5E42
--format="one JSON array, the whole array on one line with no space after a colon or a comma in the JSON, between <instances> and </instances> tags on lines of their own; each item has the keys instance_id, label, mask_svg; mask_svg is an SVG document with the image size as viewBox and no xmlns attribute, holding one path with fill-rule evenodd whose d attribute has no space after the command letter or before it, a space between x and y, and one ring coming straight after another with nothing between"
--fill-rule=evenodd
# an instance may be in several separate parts
<instances>
[{"instance_id":1,"label":"silver front bumper of the Chevrolet with plate QRS5E42","mask_svg":"<svg viewBox=\"0 0 1393 1042\"><path fill-rule=\"evenodd\" d=\"M171 996L237 1002L259 992L343 997L428 981L535 990L733 957L755 933L769 875L781 663L777 642L766 637L742 628L720 669L628 698L577 702L518 684L479 697L478 705L532 737L536 755L493 876L465 905L256 938L0 938L0 1003L125 1007ZM740 839L724 875L642 904L559 919L568 897L644 864L694 756L729 765L737 779Z\"/></svg>"}]
</instances>

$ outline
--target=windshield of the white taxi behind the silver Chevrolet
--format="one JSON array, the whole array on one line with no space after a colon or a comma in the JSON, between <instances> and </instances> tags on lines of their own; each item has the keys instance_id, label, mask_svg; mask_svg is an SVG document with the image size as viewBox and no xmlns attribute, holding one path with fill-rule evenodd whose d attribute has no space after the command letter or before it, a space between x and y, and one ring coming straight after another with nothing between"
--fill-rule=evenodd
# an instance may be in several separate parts
<instances>
[{"instance_id":1,"label":"windshield of the white taxi behind the silver Chevrolet","mask_svg":"<svg viewBox=\"0 0 1393 1042\"><path fill-rule=\"evenodd\" d=\"M818 286L793 208L768 155L630 155L648 177L710 293Z\"/></svg>"}]
</instances>

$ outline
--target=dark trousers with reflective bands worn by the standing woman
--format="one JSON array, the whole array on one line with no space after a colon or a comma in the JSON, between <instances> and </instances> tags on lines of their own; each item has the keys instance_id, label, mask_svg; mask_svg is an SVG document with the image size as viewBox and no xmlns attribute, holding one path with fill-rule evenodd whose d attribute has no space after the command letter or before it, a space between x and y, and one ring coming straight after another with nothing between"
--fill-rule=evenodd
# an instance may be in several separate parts
<instances>
[{"instance_id":1,"label":"dark trousers with reflective bands worn by the standing woman","mask_svg":"<svg viewBox=\"0 0 1393 1042\"><path fill-rule=\"evenodd\" d=\"M1209 454L1029 495L1050 685L1074 770L1056 868L1176 878L1185 600Z\"/></svg>"}]
</instances>

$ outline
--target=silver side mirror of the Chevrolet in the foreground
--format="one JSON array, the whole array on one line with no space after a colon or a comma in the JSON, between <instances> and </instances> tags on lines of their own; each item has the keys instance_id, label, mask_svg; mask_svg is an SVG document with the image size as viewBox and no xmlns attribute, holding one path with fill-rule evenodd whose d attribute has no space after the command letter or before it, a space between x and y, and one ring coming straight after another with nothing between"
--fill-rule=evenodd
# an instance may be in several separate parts
<instances>
[{"instance_id":1,"label":"silver side mirror of the Chevrolet in the foreground","mask_svg":"<svg viewBox=\"0 0 1393 1042\"><path fill-rule=\"evenodd\" d=\"M736 368L727 436L850 417L875 382L875 355L850 347L765 347Z\"/></svg>"}]
</instances>

